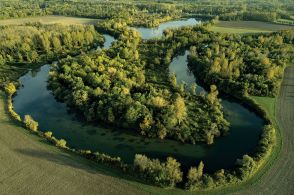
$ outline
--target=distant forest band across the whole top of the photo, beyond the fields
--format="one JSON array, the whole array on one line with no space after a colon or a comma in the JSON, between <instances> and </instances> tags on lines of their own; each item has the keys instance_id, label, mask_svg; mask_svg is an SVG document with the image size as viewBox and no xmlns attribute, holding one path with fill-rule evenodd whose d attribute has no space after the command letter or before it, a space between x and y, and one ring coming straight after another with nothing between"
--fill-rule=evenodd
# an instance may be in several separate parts
<instances>
[{"instance_id":1,"label":"distant forest band across the whole top of the photo, beyond the fields","mask_svg":"<svg viewBox=\"0 0 294 195\"><path fill-rule=\"evenodd\" d=\"M184 0L184 1L62 1L1 0L0 18L40 15L68 15L90 18L121 18L136 26L157 26L160 22L185 16L215 17L221 20L258 20L293 24L291 0Z\"/></svg>"}]
</instances>

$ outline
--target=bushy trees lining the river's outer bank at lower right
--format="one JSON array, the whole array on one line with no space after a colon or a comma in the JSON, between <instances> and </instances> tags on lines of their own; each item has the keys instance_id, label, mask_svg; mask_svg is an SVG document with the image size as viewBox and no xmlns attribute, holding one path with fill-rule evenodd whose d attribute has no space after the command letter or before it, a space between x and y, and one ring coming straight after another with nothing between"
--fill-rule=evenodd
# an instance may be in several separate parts
<instances>
[{"instance_id":1,"label":"bushy trees lining the river's outer bank at lower right","mask_svg":"<svg viewBox=\"0 0 294 195\"><path fill-rule=\"evenodd\" d=\"M175 159L169 157L165 162L160 162L158 159L149 159L140 154L135 156L134 168L146 181L162 187L174 187L186 177L187 190L211 189L250 178L270 155L275 142L275 128L272 125L265 125L255 153L237 159L234 168L221 169L213 174L205 173L202 161L197 167L191 167L184 176L180 163Z\"/></svg>"}]
</instances>

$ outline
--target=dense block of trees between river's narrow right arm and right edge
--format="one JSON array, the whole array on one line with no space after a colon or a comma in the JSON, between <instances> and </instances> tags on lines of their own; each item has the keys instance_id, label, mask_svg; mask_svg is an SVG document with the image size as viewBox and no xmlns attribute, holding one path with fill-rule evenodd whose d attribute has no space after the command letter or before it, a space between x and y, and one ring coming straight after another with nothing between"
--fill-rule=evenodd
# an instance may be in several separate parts
<instances>
[{"instance_id":1,"label":"dense block of trees between river's narrow right arm and right edge","mask_svg":"<svg viewBox=\"0 0 294 195\"><path fill-rule=\"evenodd\" d=\"M270 34L208 34L190 48L189 66L206 84L240 95L276 96L293 62L294 31Z\"/></svg>"}]
</instances>

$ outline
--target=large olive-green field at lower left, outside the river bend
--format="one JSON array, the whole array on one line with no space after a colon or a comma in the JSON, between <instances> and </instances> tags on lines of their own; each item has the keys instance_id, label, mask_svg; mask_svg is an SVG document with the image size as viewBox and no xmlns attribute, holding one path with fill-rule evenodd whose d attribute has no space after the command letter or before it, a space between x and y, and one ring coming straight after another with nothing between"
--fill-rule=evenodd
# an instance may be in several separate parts
<instances>
[{"instance_id":1,"label":"large olive-green field at lower left, outside the river bend","mask_svg":"<svg viewBox=\"0 0 294 195\"><path fill-rule=\"evenodd\" d=\"M101 170L99 170L101 169ZM143 194L131 181L61 152L17 127L0 91L0 194Z\"/></svg>"}]
</instances>

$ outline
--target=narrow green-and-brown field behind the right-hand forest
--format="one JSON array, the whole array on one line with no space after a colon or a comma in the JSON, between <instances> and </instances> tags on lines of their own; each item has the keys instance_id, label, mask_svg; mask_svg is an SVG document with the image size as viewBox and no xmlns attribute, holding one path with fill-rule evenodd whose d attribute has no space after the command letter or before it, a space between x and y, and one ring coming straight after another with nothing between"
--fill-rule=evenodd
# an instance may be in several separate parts
<instances>
[{"instance_id":1,"label":"narrow green-and-brown field behind the right-hand forest","mask_svg":"<svg viewBox=\"0 0 294 195\"><path fill-rule=\"evenodd\" d=\"M220 21L211 30L221 33L267 33L288 28L293 27L258 21Z\"/></svg>"}]
</instances>

